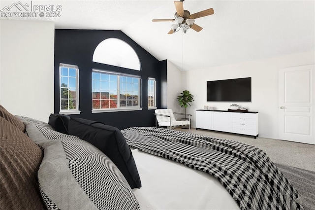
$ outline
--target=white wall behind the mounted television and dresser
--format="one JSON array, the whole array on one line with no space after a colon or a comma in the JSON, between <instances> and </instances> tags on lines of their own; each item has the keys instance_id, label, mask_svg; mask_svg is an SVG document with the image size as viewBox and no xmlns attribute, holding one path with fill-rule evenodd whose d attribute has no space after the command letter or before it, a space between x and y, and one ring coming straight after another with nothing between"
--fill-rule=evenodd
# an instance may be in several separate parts
<instances>
[{"instance_id":1,"label":"white wall behind the mounted television and dresser","mask_svg":"<svg viewBox=\"0 0 315 210\"><path fill-rule=\"evenodd\" d=\"M194 95L189 107L192 113L192 127L195 127L195 110L204 105L227 110L233 103L207 103L207 81L252 77L252 103L238 103L249 111L259 112L259 136L278 139L278 70L286 67L315 64L315 52L305 52L270 59L244 62L209 69L183 72L186 88ZM168 84L168 87L170 84Z\"/></svg>"}]
</instances>

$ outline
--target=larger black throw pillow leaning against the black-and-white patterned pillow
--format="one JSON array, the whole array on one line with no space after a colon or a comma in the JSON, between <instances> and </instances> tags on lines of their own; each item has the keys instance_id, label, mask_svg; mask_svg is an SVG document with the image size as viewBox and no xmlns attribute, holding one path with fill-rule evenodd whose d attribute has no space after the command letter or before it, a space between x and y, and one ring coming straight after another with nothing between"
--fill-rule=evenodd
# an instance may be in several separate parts
<instances>
[{"instance_id":1,"label":"larger black throw pillow leaning against the black-and-white patterned pillow","mask_svg":"<svg viewBox=\"0 0 315 210\"><path fill-rule=\"evenodd\" d=\"M109 157L125 176L131 188L141 187L131 150L118 128L87 119L71 118L68 131L70 135L90 142Z\"/></svg>"}]
</instances>

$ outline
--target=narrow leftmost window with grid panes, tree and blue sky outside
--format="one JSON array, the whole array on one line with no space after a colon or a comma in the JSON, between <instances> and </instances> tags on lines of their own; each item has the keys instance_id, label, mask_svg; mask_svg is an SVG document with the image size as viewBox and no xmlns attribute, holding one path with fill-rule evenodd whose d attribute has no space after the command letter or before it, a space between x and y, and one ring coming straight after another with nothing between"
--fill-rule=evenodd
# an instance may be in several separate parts
<instances>
[{"instance_id":1,"label":"narrow leftmost window with grid panes, tree and blue sky outside","mask_svg":"<svg viewBox=\"0 0 315 210\"><path fill-rule=\"evenodd\" d=\"M60 64L60 113L78 114L79 69L78 66Z\"/></svg>"}]
</instances>

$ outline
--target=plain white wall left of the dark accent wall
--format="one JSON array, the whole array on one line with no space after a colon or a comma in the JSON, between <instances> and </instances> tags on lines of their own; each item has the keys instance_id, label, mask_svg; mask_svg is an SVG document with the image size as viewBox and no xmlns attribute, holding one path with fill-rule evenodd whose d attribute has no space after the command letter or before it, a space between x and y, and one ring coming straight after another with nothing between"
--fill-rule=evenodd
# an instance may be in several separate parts
<instances>
[{"instance_id":1,"label":"plain white wall left of the dark accent wall","mask_svg":"<svg viewBox=\"0 0 315 210\"><path fill-rule=\"evenodd\" d=\"M54 112L53 22L0 21L0 104L48 122Z\"/></svg>"}]
</instances>

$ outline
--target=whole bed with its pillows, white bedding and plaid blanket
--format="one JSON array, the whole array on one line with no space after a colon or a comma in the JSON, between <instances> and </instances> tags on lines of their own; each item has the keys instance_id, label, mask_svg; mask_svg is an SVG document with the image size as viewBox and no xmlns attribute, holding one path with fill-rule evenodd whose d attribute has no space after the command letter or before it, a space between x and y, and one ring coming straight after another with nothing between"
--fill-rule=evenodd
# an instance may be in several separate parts
<instances>
[{"instance_id":1,"label":"whole bed with its pillows, white bedding and plaid blanket","mask_svg":"<svg viewBox=\"0 0 315 210\"><path fill-rule=\"evenodd\" d=\"M0 122L1 208L303 209L289 181L248 144L60 115L45 123L2 106Z\"/></svg>"}]
</instances>

